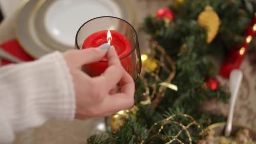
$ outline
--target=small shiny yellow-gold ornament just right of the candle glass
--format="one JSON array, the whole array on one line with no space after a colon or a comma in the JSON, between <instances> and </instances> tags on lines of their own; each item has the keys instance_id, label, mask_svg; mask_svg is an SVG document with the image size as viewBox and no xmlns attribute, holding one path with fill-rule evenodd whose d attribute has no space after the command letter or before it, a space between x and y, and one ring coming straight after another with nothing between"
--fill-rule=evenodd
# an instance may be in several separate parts
<instances>
[{"instance_id":1,"label":"small shiny yellow-gold ornament just right of the candle glass","mask_svg":"<svg viewBox=\"0 0 256 144\"><path fill-rule=\"evenodd\" d=\"M146 68L150 72L154 72L158 67L157 60L150 59L149 56L146 54L141 55L141 62L142 67Z\"/></svg>"}]
</instances>

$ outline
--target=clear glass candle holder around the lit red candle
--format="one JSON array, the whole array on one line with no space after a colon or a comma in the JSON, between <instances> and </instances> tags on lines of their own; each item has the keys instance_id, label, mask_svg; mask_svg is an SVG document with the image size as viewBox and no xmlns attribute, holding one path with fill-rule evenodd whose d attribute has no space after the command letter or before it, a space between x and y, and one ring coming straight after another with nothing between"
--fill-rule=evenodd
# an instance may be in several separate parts
<instances>
[{"instance_id":1,"label":"clear glass candle holder around the lit red candle","mask_svg":"<svg viewBox=\"0 0 256 144\"><path fill-rule=\"evenodd\" d=\"M131 47L124 52L123 50L119 49L119 52L121 53L119 54L119 58L124 69L131 75L131 77L133 77L133 80L136 80L141 72L141 54L137 32L127 21L113 16L101 16L85 22L77 31L75 37L75 48L80 50L84 49L83 46L87 38L99 32L106 32L106 43L108 43L108 30L110 30L112 33L115 32L118 35L123 35L126 40L128 39L127 41L129 43L123 43L122 40L115 40L115 35L112 35L113 37L110 39L110 45L112 45L112 40L118 43L117 46L114 44L116 51L119 45ZM99 45L95 44L92 46L98 47ZM83 67L84 71L90 76L100 75L106 68L107 59L101 59L101 61L88 64Z\"/></svg>"}]
</instances>

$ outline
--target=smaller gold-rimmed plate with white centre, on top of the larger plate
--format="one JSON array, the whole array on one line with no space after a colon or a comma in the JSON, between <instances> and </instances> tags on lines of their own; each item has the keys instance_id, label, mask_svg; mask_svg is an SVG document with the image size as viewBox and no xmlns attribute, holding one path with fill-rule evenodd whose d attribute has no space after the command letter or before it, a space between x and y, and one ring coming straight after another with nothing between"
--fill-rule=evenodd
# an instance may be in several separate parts
<instances>
[{"instance_id":1,"label":"smaller gold-rimmed plate with white centre, on top of the larger plate","mask_svg":"<svg viewBox=\"0 0 256 144\"><path fill-rule=\"evenodd\" d=\"M35 29L49 47L65 51L74 47L77 29L99 16L115 16L132 22L127 0L40 0L35 11ZM109 21L111 23L111 21ZM112 24L118 27L118 24Z\"/></svg>"}]
</instances>

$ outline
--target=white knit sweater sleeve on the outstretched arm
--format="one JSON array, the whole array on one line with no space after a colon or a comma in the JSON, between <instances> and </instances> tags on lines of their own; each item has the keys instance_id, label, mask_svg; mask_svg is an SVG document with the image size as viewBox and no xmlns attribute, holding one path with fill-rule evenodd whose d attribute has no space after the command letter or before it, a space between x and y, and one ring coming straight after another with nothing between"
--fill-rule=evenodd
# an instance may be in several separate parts
<instances>
[{"instance_id":1,"label":"white knit sweater sleeve on the outstretched arm","mask_svg":"<svg viewBox=\"0 0 256 144\"><path fill-rule=\"evenodd\" d=\"M0 68L0 144L48 119L73 120L75 90L60 52Z\"/></svg>"}]
</instances>

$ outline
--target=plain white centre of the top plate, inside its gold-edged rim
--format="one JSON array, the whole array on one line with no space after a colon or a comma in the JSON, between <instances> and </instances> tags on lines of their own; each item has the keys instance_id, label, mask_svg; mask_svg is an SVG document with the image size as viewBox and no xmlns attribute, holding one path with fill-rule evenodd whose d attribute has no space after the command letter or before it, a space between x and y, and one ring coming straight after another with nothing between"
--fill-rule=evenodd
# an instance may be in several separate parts
<instances>
[{"instance_id":1,"label":"plain white centre of the top plate, inside its gold-edged rim","mask_svg":"<svg viewBox=\"0 0 256 144\"><path fill-rule=\"evenodd\" d=\"M99 16L122 17L113 0L55 0L45 13L45 27L60 43L74 46L77 29Z\"/></svg>"}]
</instances>

